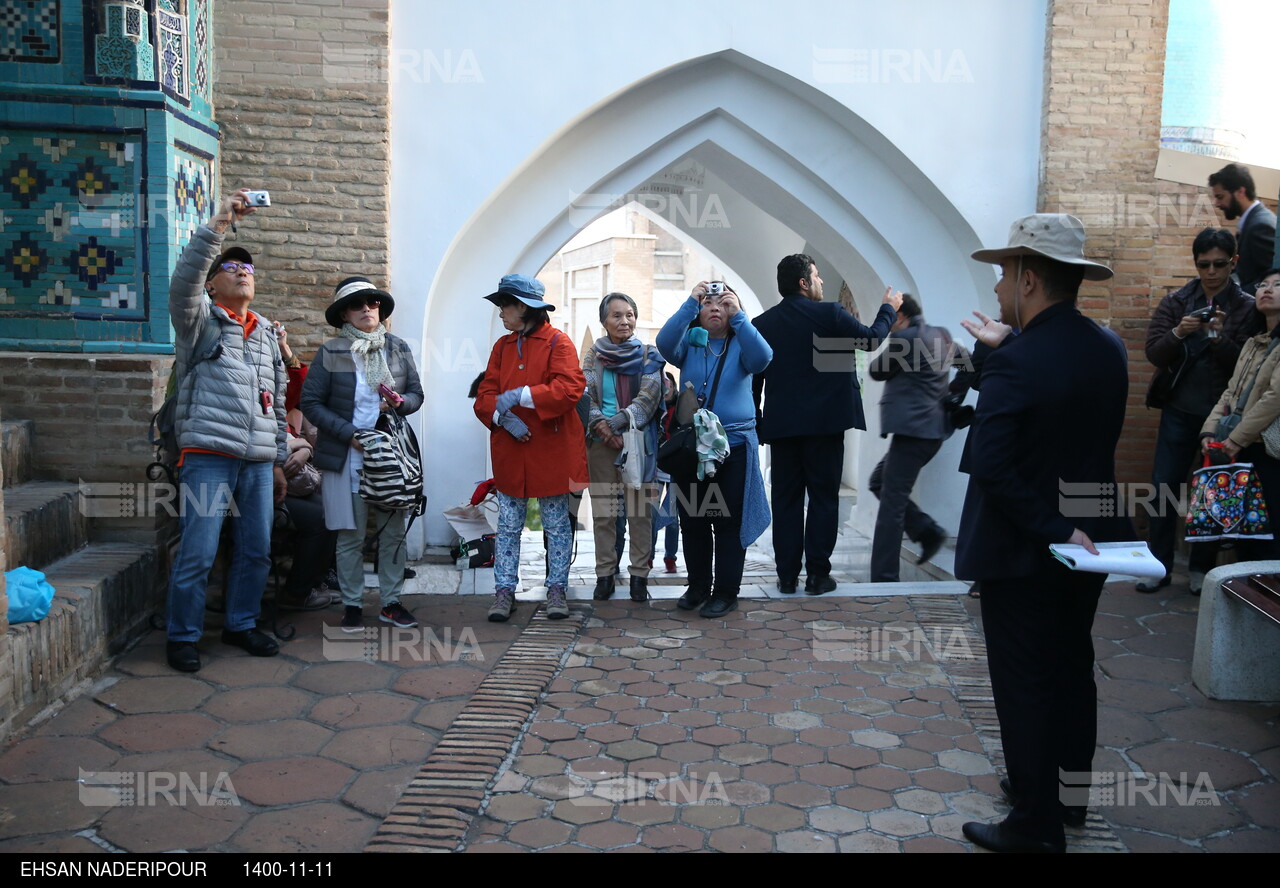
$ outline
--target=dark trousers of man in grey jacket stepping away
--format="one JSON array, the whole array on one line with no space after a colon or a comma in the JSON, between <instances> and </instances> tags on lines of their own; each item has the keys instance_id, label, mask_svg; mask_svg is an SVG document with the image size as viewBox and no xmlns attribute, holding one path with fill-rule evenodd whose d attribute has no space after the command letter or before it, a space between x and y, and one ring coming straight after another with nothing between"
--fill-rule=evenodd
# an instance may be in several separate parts
<instances>
[{"instance_id":1,"label":"dark trousers of man in grey jacket stepping away","mask_svg":"<svg viewBox=\"0 0 1280 888\"><path fill-rule=\"evenodd\" d=\"M872 582L897 582L904 530L918 543L936 525L911 500L911 490L920 470L941 448L938 438L893 435L888 453L872 470L867 486L881 502L872 537Z\"/></svg>"}]
</instances>

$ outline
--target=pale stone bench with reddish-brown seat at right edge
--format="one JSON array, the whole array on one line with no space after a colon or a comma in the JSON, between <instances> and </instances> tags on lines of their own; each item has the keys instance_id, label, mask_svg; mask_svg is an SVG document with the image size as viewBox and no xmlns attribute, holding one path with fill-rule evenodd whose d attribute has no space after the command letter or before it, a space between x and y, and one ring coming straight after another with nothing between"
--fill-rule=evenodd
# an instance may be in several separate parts
<instances>
[{"instance_id":1,"label":"pale stone bench with reddish-brown seat at right edge","mask_svg":"<svg viewBox=\"0 0 1280 888\"><path fill-rule=\"evenodd\" d=\"M1204 577L1192 681L1213 700L1280 700L1280 560L1242 562ZM1261 577L1254 580L1253 577Z\"/></svg>"}]
</instances>

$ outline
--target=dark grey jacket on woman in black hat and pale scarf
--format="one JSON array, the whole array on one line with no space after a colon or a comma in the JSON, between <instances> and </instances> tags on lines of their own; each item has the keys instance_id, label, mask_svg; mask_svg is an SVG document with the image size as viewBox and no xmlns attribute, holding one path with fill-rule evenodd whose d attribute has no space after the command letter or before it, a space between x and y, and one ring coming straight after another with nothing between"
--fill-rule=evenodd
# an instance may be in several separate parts
<instances>
[{"instance_id":1,"label":"dark grey jacket on woman in black hat and pale scarf","mask_svg":"<svg viewBox=\"0 0 1280 888\"><path fill-rule=\"evenodd\" d=\"M384 348L387 369L396 379L392 388L404 398L396 412L401 416L415 413L422 407L422 383L417 377L413 353L407 342L389 333ZM339 337L320 347L307 369L298 407L320 430L311 462L325 471L340 472L356 434L351 422L356 415L356 363L351 357L349 339Z\"/></svg>"}]
</instances>

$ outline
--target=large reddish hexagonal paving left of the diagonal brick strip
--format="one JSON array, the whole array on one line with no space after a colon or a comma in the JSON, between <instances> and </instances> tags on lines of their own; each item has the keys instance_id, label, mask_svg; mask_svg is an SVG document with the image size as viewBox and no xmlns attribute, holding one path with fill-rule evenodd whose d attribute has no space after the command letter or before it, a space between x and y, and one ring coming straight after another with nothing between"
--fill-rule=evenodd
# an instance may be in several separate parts
<instances>
[{"instance_id":1,"label":"large reddish hexagonal paving left of the diagonal brick strip","mask_svg":"<svg viewBox=\"0 0 1280 888\"><path fill-rule=\"evenodd\" d=\"M0 754L0 851L360 851L532 615L526 607L497 624L477 599L407 603L431 635L375 631L365 647L337 632L326 642L323 624L340 619L330 608L291 617L298 633L273 659L211 631L195 676L169 669L164 636L151 632ZM371 626L371 599L365 614ZM452 658L468 651L476 658ZM333 659L366 655L376 662ZM174 805L152 792L159 804L90 806L81 772L182 774L210 796L225 774L241 804L188 793Z\"/></svg>"}]
</instances>

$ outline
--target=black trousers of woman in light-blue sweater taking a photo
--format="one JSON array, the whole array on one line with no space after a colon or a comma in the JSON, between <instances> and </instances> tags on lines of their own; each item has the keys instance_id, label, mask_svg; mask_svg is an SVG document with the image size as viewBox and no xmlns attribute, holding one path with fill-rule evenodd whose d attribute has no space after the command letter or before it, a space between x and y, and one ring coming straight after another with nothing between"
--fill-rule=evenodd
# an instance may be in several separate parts
<instances>
[{"instance_id":1,"label":"black trousers of woman in light-blue sweater taking a photo","mask_svg":"<svg viewBox=\"0 0 1280 888\"><path fill-rule=\"evenodd\" d=\"M675 484L685 540L689 585L736 599L742 585L742 495L746 490L746 444L735 445L716 476ZM713 572L714 564L714 572Z\"/></svg>"}]
</instances>

